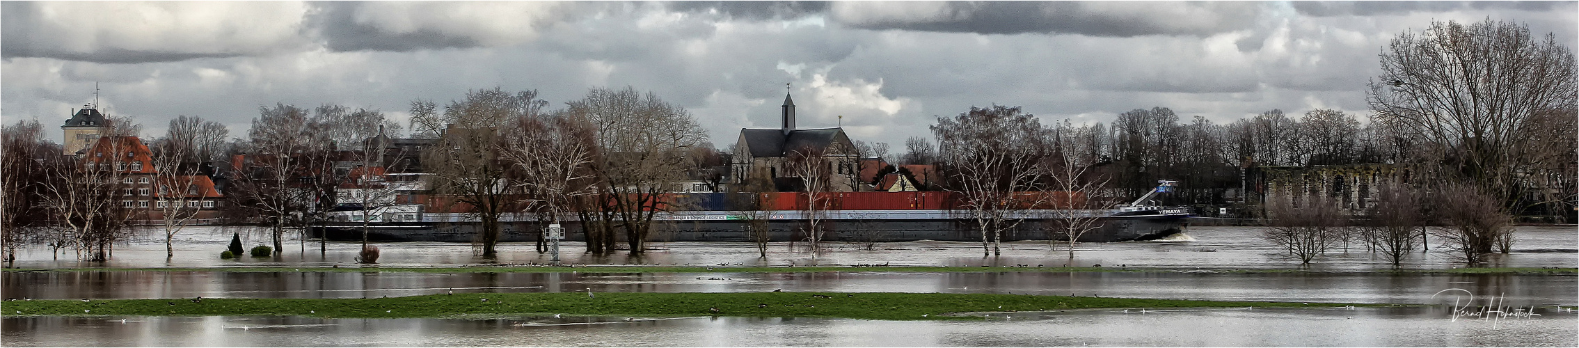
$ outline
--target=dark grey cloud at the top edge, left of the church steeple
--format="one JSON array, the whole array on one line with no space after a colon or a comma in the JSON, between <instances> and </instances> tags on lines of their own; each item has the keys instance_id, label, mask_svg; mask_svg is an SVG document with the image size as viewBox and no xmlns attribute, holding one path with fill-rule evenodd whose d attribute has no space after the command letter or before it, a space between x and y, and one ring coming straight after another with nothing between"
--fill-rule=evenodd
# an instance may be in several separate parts
<instances>
[{"instance_id":1,"label":"dark grey cloud at the top edge, left of the church steeple","mask_svg":"<svg viewBox=\"0 0 1579 348\"><path fill-rule=\"evenodd\" d=\"M319 30L324 46L332 51L418 51L445 47L477 47L477 40L452 36L439 30L422 28L411 33L390 33L376 25L358 24L358 2L314 2L319 11L308 14L308 22Z\"/></svg>"}]
</instances>

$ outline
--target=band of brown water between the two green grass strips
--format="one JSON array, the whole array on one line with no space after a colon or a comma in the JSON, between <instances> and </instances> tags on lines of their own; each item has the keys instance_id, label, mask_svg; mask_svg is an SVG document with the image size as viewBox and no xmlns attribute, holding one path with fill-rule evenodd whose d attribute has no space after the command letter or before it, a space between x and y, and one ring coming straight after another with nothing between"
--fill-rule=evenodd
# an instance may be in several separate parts
<instances>
[{"instance_id":1,"label":"band of brown water between the two green grass strips","mask_svg":"<svg viewBox=\"0 0 1579 348\"><path fill-rule=\"evenodd\" d=\"M455 293L1014 293L1213 301L1421 304L1461 288L1508 304L1573 305L1576 275L1510 274L411 274L411 272L5 272L6 297L379 297Z\"/></svg>"}]
</instances>

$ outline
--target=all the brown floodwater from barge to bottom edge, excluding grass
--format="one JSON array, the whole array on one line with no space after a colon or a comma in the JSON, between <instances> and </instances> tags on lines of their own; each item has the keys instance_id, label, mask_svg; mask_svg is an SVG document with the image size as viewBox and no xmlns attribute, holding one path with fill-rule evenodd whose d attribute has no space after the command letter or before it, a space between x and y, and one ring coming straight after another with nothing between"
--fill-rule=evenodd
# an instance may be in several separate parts
<instances>
[{"instance_id":1,"label":"all the brown floodwater from barge to bottom edge, excluding grass","mask_svg":"<svg viewBox=\"0 0 1579 348\"><path fill-rule=\"evenodd\" d=\"M178 236L175 258L163 239L139 237L115 247L112 261L95 264L47 248L27 248L19 267L355 267L357 244L327 244L302 252L291 240L278 259L218 259L232 228L197 228ZM690 266L1094 266L1164 267L1181 272L824 272L824 274L415 274L415 272L5 272L5 297L152 299L152 297L376 297L455 293L538 291L898 291L1014 293L1110 297L1483 304L1533 308L1535 316L1454 318L1446 307L1424 308L1217 308L1126 313L1082 310L995 315L985 321L867 321L831 318L494 318L494 320L324 320L295 316L90 316L3 318L8 346L1576 346L1579 316L1554 305L1579 304L1576 275L1377 274L1391 266L1353 245L1309 266L1330 272L1233 274L1213 269L1292 269L1257 237L1257 228L1192 228L1172 240L1080 244L1075 258L1063 245L1004 244L1001 256L982 256L981 244L898 242L827 244L810 255L804 244L772 244L759 258L753 244L655 244L643 258L625 253L591 256L567 244L567 264ZM243 231L246 245L264 244ZM1521 226L1513 253L1492 266L1576 267L1579 234L1571 226ZM542 264L531 244L504 244L501 256L472 256L464 244L377 244L379 266ZM1435 245L1432 245L1435 247ZM1404 267L1457 267L1453 255L1432 248ZM1445 289L1464 289L1448 291ZM1468 296L1467 296L1468 294ZM1473 297L1470 297L1473 296ZM1511 308L1503 308L1511 310ZM1525 312L1528 313L1528 312Z\"/></svg>"}]
</instances>

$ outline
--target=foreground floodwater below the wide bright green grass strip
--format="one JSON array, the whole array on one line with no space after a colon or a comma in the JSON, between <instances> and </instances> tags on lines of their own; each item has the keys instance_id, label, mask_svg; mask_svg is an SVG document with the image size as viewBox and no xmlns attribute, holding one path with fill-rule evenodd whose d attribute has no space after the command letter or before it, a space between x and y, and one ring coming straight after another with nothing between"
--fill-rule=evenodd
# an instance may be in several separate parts
<instances>
[{"instance_id":1,"label":"foreground floodwater below the wide bright green grass strip","mask_svg":"<svg viewBox=\"0 0 1579 348\"><path fill-rule=\"evenodd\" d=\"M1522 312L1528 313L1528 312ZM1574 346L1573 312L1211 308L992 313L982 321L831 318L325 320L3 318L8 346Z\"/></svg>"}]
</instances>

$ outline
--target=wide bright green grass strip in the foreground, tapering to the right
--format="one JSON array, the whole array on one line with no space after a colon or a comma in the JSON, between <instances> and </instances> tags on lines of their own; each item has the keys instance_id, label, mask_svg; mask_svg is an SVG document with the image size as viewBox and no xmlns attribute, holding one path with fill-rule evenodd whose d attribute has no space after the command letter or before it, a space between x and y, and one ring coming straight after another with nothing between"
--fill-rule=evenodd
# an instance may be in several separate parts
<instances>
[{"instance_id":1,"label":"wide bright green grass strip in the foreground, tapering to the right","mask_svg":"<svg viewBox=\"0 0 1579 348\"><path fill-rule=\"evenodd\" d=\"M5 301L3 316L295 315L324 318L572 316L823 316L854 320L963 320L970 312L1181 307L1382 307L1377 304L1221 302L940 293L493 293L379 299L114 299ZM483 301L486 299L486 301ZM717 310L714 310L717 308Z\"/></svg>"}]
</instances>

